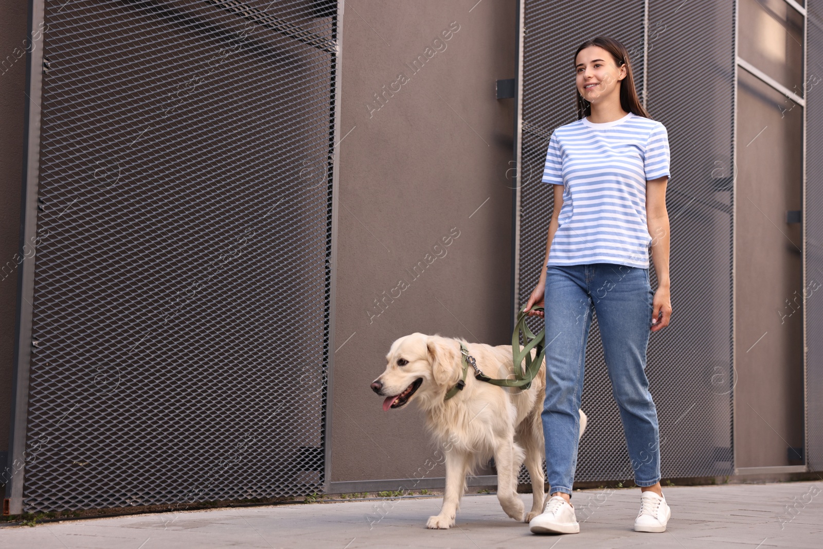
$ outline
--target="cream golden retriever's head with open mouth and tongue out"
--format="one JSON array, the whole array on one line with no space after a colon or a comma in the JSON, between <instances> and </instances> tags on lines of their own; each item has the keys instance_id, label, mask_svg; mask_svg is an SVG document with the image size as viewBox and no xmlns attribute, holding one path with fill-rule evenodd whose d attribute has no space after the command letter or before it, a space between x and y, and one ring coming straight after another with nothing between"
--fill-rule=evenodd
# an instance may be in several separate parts
<instances>
[{"instance_id":1,"label":"cream golden retriever's head with open mouth and tongue out","mask_svg":"<svg viewBox=\"0 0 823 549\"><path fill-rule=\"evenodd\" d=\"M412 398L430 407L460 379L460 342L412 333L392 343L386 361L383 374L371 384L374 393L386 397L383 409L405 406Z\"/></svg>"}]
</instances>

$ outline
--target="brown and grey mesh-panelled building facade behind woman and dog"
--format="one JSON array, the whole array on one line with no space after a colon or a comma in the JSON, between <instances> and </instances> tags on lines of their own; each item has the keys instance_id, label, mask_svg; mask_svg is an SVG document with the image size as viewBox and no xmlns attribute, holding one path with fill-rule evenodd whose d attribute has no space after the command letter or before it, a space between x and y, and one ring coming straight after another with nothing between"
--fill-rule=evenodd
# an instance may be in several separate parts
<instances>
[{"instance_id":1,"label":"brown and grey mesh-panelled building facade behind woman and dog","mask_svg":"<svg viewBox=\"0 0 823 549\"><path fill-rule=\"evenodd\" d=\"M823 470L823 8L576 6L0 2L4 512L442 486L369 383L407 333L510 342L597 35L672 147L663 477ZM577 480L630 480L587 356Z\"/></svg>"}]
</instances>

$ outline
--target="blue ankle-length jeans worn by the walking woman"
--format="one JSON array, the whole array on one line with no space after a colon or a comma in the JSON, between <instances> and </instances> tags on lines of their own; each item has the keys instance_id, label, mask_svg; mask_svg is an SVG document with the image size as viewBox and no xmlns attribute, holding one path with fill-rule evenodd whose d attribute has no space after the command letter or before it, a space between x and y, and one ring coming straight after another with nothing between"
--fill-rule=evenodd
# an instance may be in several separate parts
<instances>
[{"instance_id":1,"label":"blue ankle-length jeans worn by the walking woman","mask_svg":"<svg viewBox=\"0 0 823 549\"><path fill-rule=\"evenodd\" d=\"M635 484L652 486L660 480L658 414L644 372L652 298L649 269L615 263L546 268L546 402L541 416L550 494L571 494L574 482L593 311Z\"/></svg>"}]
</instances>

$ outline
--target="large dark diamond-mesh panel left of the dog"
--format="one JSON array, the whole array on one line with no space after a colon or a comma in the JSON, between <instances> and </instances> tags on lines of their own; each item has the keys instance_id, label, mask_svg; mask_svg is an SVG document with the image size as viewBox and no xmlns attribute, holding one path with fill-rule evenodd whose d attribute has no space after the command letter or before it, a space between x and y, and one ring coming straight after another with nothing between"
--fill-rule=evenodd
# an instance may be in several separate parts
<instances>
[{"instance_id":1,"label":"large dark diamond-mesh panel left of the dog","mask_svg":"<svg viewBox=\"0 0 823 549\"><path fill-rule=\"evenodd\" d=\"M337 2L45 2L27 512L322 491Z\"/></svg>"}]
</instances>

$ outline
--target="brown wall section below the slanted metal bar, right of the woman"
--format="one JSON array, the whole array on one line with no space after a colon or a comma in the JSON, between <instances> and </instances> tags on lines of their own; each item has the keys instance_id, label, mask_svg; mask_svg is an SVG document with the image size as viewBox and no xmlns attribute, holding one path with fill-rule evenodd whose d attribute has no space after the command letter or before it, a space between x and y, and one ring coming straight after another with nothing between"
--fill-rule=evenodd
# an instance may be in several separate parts
<instances>
[{"instance_id":1,"label":"brown wall section below the slanted metal bar, right of the woman","mask_svg":"<svg viewBox=\"0 0 823 549\"><path fill-rule=\"evenodd\" d=\"M802 108L739 70L735 230L735 465L800 465L803 443ZM813 284L813 286L812 286Z\"/></svg>"}]
</instances>

